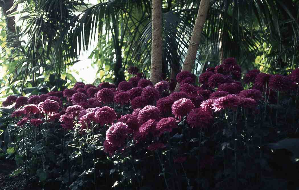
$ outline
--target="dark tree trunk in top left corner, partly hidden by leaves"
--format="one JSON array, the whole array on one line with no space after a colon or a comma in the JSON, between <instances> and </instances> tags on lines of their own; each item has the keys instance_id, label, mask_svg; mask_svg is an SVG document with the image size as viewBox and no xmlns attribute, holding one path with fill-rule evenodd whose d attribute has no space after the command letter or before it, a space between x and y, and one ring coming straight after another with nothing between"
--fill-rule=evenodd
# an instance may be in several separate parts
<instances>
[{"instance_id":1,"label":"dark tree trunk in top left corner, partly hidden by leaves","mask_svg":"<svg viewBox=\"0 0 299 190\"><path fill-rule=\"evenodd\" d=\"M17 6L11 10L11 11L8 11L12 6L13 6L13 2L14 0L4 0L4 1L0 1L0 5L2 7L2 12L6 18L6 24L7 24L7 31L8 32L11 32L11 33L16 33L16 30L15 30L15 19L16 17L15 16L11 16L11 17L8 17L7 15L9 15L10 13L13 13L17 10ZM11 38L11 35L9 33L6 33L7 35L7 40L9 40ZM10 47L16 47L15 45L13 44L9 44Z\"/></svg>"}]
</instances>

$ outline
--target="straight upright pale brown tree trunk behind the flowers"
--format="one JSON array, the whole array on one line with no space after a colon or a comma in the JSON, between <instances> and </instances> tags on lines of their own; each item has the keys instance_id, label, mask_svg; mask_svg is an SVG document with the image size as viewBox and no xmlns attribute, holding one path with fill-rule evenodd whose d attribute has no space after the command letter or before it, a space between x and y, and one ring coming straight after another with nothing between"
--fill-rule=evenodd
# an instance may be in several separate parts
<instances>
[{"instance_id":1,"label":"straight upright pale brown tree trunk behind the flowers","mask_svg":"<svg viewBox=\"0 0 299 190\"><path fill-rule=\"evenodd\" d=\"M152 61L149 79L161 81L162 75L162 0L152 0Z\"/></svg>"}]
</instances>

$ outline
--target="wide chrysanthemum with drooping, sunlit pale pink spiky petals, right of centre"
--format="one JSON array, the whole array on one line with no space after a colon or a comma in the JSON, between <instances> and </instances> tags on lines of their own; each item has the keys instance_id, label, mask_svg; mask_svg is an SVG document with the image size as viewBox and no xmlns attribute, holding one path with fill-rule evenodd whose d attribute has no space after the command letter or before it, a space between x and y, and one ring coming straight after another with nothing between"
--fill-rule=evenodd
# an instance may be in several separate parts
<instances>
[{"instance_id":1,"label":"wide chrysanthemum with drooping, sunlit pale pink spiky petals, right of centre","mask_svg":"<svg viewBox=\"0 0 299 190\"><path fill-rule=\"evenodd\" d=\"M212 104L213 110L215 112L224 110L227 108L236 110L238 105L240 104L240 97L237 95L227 95L218 99L214 100L214 103Z\"/></svg>"}]
</instances>

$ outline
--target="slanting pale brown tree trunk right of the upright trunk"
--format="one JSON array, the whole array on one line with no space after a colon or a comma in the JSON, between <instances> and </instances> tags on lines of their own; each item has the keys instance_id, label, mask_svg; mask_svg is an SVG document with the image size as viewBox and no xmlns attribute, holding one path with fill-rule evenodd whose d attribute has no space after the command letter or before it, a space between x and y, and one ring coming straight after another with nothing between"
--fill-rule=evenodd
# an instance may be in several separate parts
<instances>
[{"instance_id":1,"label":"slanting pale brown tree trunk right of the upright trunk","mask_svg":"<svg viewBox=\"0 0 299 190\"><path fill-rule=\"evenodd\" d=\"M195 21L195 25L193 28L188 52L182 67L182 71L192 71L193 65L196 60L196 54L199 48L200 37L202 33L202 29L205 24L205 20L207 18L208 10L209 10L210 0L201 0L199 4L199 9ZM176 90L179 90L179 83L176 85Z\"/></svg>"}]
</instances>

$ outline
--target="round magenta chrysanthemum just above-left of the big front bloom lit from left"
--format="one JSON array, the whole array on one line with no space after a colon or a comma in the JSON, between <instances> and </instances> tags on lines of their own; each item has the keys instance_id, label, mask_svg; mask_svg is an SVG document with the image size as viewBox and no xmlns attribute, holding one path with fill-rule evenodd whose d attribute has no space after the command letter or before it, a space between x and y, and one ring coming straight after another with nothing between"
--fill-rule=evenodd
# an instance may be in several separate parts
<instances>
[{"instance_id":1,"label":"round magenta chrysanthemum just above-left of the big front bloom lit from left","mask_svg":"<svg viewBox=\"0 0 299 190\"><path fill-rule=\"evenodd\" d=\"M104 124L112 124L116 120L116 113L111 107L104 106L95 112L94 117L96 122L103 126Z\"/></svg>"}]
</instances>

